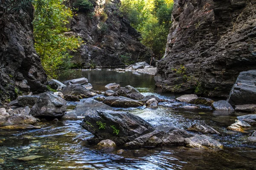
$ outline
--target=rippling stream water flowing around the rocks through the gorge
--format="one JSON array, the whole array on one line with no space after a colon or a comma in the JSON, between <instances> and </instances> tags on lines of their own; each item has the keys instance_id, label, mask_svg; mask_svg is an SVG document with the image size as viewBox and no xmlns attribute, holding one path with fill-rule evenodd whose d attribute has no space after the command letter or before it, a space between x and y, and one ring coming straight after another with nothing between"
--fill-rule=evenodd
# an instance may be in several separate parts
<instances>
[{"instance_id":1,"label":"rippling stream water flowing around the rocks through the gorge","mask_svg":"<svg viewBox=\"0 0 256 170\"><path fill-rule=\"evenodd\" d=\"M170 94L156 93L154 77L134 72L76 71L76 78L86 77L94 90L104 90L111 82L121 86L131 85L143 95L154 94L160 99L172 99ZM68 77L64 77L68 79ZM72 105L72 103L69 103ZM88 145L86 139L93 135L76 121L40 122L37 130L0 130L0 169L3 170L255 170L256 148L242 144L247 133L226 130L242 113L223 114L210 108L185 111L160 103L157 109L116 108L138 115L153 126L172 125L186 129L195 122L205 122L222 136L211 135L224 144L223 150L198 150L183 146L157 148L131 148L123 153L99 150ZM16 158L39 155L32 161Z\"/></svg>"}]
</instances>

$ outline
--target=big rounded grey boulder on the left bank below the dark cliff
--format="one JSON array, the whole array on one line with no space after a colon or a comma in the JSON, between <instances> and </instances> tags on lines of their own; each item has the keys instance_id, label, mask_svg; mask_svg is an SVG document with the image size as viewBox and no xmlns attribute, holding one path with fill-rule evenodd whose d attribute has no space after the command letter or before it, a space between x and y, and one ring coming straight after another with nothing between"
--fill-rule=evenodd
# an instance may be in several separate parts
<instances>
[{"instance_id":1,"label":"big rounded grey boulder on the left bank below the dark cliff","mask_svg":"<svg viewBox=\"0 0 256 170\"><path fill-rule=\"evenodd\" d=\"M33 116L61 117L67 109L67 101L52 93L43 93L31 109Z\"/></svg>"}]
</instances>

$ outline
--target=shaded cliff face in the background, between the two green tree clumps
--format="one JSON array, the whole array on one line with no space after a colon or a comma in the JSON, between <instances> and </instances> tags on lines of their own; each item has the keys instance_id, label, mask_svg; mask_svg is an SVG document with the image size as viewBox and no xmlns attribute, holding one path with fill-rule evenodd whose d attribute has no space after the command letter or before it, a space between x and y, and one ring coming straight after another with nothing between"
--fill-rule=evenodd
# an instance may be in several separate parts
<instances>
[{"instance_id":1,"label":"shaded cliff face in the background, between the two green tree clumps","mask_svg":"<svg viewBox=\"0 0 256 170\"><path fill-rule=\"evenodd\" d=\"M80 68L149 63L151 51L140 43L140 34L122 17L120 1L96 0L93 6L93 12L78 12L71 22L71 30L86 43L73 54L73 62Z\"/></svg>"}]
</instances>

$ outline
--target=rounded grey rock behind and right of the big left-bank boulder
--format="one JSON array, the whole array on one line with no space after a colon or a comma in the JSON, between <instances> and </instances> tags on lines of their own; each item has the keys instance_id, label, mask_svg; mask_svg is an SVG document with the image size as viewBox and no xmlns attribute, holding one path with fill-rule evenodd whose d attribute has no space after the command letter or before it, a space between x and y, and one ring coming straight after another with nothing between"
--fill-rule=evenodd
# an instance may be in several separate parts
<instances>
[{"instance_id":1,"label":"rounded grey rock behind and right of the big left-bank boulder","mask_svg":"<svg viewBox=\"0 0 256 170\"><path fill-rule=\"evenodd\" d=\"M81 94L84 94L85 96L88 97L93 97L96 96L96 93L91 92L84 86L80 84L71 84L66 87L64 87L61 91L64 95L74 95L74 96L80 96Z\"/></svg>"}]
</instances>

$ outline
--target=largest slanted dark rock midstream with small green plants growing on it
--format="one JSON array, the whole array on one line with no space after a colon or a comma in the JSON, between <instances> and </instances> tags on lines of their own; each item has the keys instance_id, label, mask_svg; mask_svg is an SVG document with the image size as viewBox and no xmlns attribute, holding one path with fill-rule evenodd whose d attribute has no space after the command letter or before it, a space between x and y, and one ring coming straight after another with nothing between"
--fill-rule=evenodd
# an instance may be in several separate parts
<instances>
[{"instance_id":1,"label":"largest slanted dark rock midstream with small green plants growing on it","mask_svg":"<svg viewBox=\"0 0 256 170\"><path fill-rule=\"evenodd\" d=\"M96 138L111 139L116 144L124 144L154 131L154 128L139 116L121 111L101 110L97 113L86 114L80 125L93 133ZM113 126L119 130L118 135L113 133Z\"/></svg>"}]
</instances>

